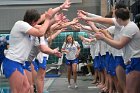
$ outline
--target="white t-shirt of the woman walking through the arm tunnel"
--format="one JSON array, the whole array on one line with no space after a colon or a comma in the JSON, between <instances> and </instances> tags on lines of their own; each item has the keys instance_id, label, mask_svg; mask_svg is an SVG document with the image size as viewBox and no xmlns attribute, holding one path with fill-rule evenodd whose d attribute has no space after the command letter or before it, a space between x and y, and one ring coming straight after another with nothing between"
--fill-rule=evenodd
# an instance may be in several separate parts
<instances>
[{"instance_id":1,"label":"white t-shirt of the woman walking through the arm tunnel","mask_svg":"<svg viewBox=\"0 0 140 93\"><path fill-rule=\"evenodd\" d=\"M69 53L66 54L66 58L68 60L76 59L76 53L78 51L78 49L77 49L78 47L80 47L80 45L77 41L74 41L73 45L71 45L71 43L66 44L66 42L64 42L62 48L69 51Z\"/></svg>"}]
</instances>

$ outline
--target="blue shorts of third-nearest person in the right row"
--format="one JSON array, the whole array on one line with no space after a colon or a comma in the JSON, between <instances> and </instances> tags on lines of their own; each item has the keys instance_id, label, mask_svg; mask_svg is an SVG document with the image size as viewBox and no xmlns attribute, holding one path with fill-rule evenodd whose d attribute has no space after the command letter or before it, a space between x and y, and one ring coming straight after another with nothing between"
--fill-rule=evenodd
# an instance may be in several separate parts
<instances>
[{"instance_id":1,"label":"blue shorts of third-nearest person in the right row","mask_svg":"<svg viewBox=\"0 0 140 93\"><path fill-rule=\"evenodd\" d=\"M115 59L113 57L113 55L111 54L110 55L110 60L109 60L109 66L108 66L108 73L111 75L111 76L116 76L116 64L115 64Z\"/></svg>"}]
</instances>

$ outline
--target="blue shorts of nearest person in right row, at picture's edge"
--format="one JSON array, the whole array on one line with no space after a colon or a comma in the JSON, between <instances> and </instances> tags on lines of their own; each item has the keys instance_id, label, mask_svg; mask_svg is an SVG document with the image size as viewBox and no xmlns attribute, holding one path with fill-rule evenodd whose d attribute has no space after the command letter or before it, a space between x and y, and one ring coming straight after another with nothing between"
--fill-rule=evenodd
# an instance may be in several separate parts
<instances>
[{"instance_id":1,"label":"blue shorts of nearest person in right row, at picture's edge","mask_svg":"<svg viewBox=\"0 0 140 93\"><path fill-rule=\"evenodd\" d=\"M126 73L140 71L140 58L131 58L131 63L126 66Z\"/></svg>"}]
</instances>

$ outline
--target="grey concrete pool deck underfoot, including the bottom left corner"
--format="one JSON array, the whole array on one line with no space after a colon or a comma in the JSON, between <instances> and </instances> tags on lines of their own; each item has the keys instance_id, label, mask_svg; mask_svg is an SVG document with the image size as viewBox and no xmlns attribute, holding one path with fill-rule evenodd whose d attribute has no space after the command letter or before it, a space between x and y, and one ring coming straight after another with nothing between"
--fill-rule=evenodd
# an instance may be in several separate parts
<instances>
[{"instance_id":1,"label":"grey concrete pool deck underfoot, including the bottom left corner","mask_svg":"<svg viewBox=\"0 0 140 93\"><path fill-rule=\"evenodd\" d=\"M44 93L99 93L99 89L91 84L92 76L83 76L78 74L77 84L75 89L72 82L72 87L68 88L65 67L61 68L60 77L45 78ZM8 80L4 76L0 76L0 93L11 93Z\"/></svg>"}]
</instances>

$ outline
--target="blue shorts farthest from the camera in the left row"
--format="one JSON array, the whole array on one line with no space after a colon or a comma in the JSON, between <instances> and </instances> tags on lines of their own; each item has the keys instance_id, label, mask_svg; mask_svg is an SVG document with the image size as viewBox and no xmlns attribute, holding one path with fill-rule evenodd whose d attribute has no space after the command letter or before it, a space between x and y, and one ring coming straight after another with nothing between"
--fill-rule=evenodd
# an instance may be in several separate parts
<instances>
[{"instance_id":1,"label":"blue shorts farthest from the camera in the left row","mask_svg":"<svg viewBox=\"0 0 140 93\"><path fill-rule=\"evenodd\" d=\"M43 62L40 63L37 59L35 59L33 61L33 65L34 65L34 69L36 70L36 72L38 71L38 69L42 68L42 69L46 69L47 66L47 57L43 57Z\"/></svg>"}]
</instances>

